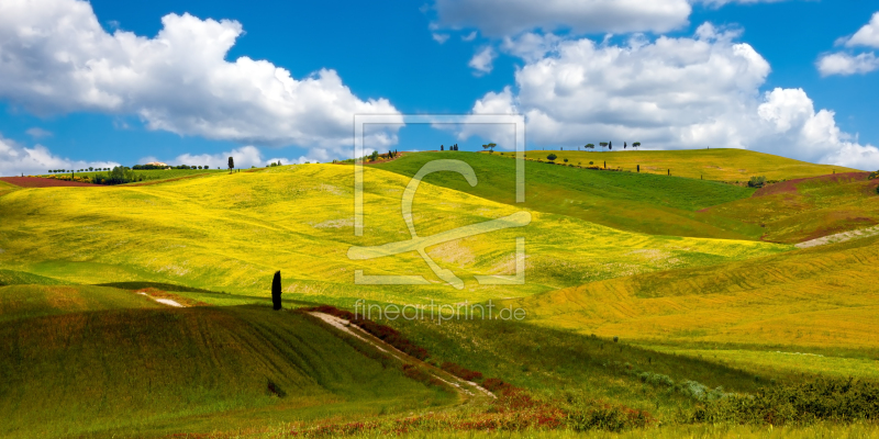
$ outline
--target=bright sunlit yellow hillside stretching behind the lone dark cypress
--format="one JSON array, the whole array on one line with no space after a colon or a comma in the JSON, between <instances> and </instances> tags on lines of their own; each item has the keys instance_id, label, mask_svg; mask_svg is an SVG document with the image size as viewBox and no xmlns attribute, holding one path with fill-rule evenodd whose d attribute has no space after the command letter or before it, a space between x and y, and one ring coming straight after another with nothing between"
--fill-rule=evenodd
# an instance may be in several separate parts
<instances>
[{"instance_id":1,"label":"bright sunlit yellow hillside stretching behind the lone dark cypress","mask_svg":"<svg viewBox=\"0 0 879 439\"><path fill-rule=\"evenodd\" d=\"M0 198L0 248L5 250L0 254L0 267L74 283L165 282L258 296L268 295L271 274L281 270L285 291L301 300L347 304L359 297L398 303L424 303L431 299L472 302L633 273L720 263L788 248L754 241L648 236L533 212L531 225L522 229L429 249L437 263L465 279L464 291L436 284L420 289L415 295L405 285L358 286L352 282L355 269L367 274L425 274L433 281L436 278L415 254L374 261L348 260L346 252L352 245L409 239L400 214L400 195L408 179L367 169L365 234L355 237L351 178L351 167L309 165L101 191L16 191ZM703 198L685 199L689 201L682 203L699 207L708 202L700 201L708 194L700 196ZM514 206L423 184L415 198L413 216L419 234L429 236L516 211ZM514 290L476 284L470 273L512 272L518 236L526 237L528 283ZM213 299L200 300L216 303ZM223 304L230 304L225 299L231 297L224 297Z\"/></svg>"}]
</instances>

